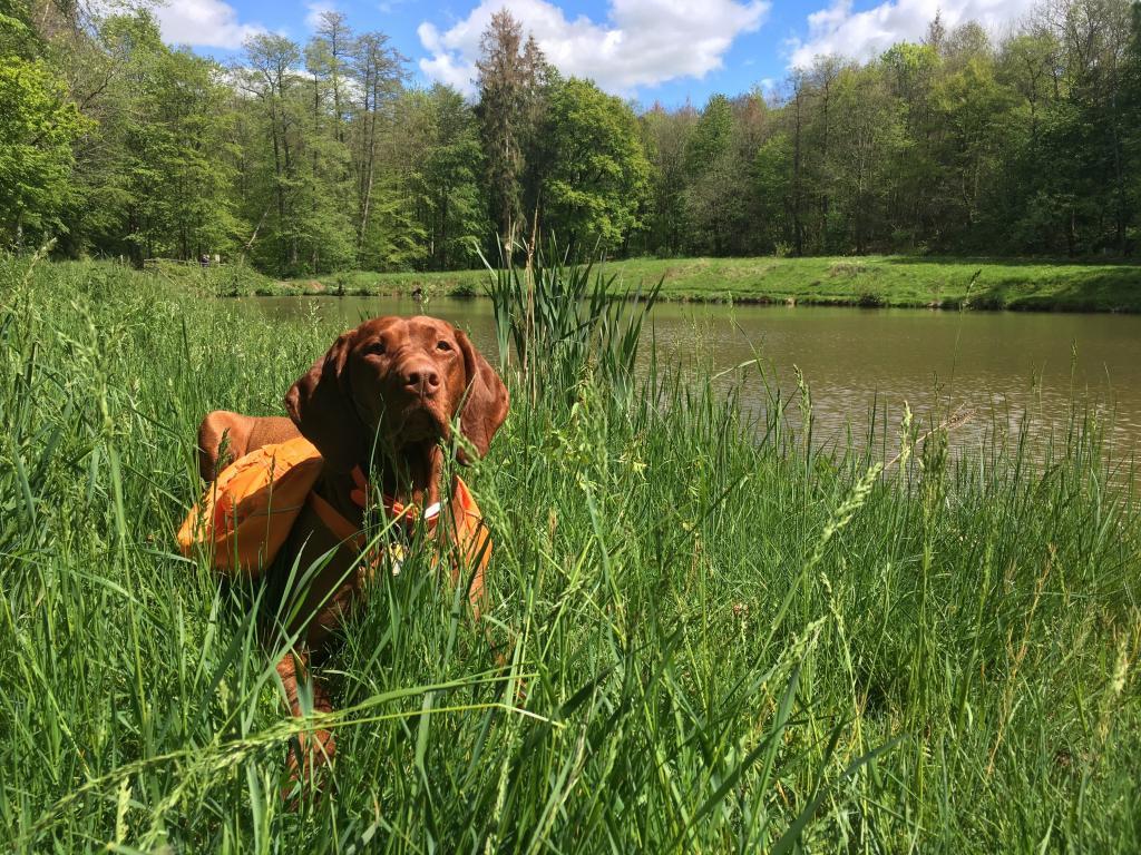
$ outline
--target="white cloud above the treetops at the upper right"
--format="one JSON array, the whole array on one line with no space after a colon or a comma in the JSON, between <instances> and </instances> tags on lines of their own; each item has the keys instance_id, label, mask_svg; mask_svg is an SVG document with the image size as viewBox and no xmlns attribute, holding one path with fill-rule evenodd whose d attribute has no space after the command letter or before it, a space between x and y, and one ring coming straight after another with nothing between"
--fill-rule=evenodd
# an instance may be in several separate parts
<instances>
[{"instance_id":1,"label":"white cloud above the treetops at the upper right","mask_svg":"<svg viewBox=\"0 0 1141 855\"><path fill-rule=\"evenodd\" d=\"M852 0L834 0L808 16L807 40L790 40L791 65L803 67L826 54L868 59L896 42L922 39L937 13L947 30L977 21L997 32L1036 5L1037 0L888 0L853 13Z\"/></svg>"}]
</instances>

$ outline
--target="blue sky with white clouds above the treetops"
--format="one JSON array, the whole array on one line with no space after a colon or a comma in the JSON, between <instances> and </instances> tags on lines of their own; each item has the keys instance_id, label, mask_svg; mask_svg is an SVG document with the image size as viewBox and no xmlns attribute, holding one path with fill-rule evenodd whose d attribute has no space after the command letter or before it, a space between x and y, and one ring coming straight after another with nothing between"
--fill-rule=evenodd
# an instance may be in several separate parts
<instances>
[{"instance_id":1,"label":"blue sky with white clouds above the treetops","mask_svg":"<svg viewBox=\"0 0 1141 855\"><path fill-rule=\"evenodd\" d=\"M1001 36L1034 0L168 0L163 35L219 59L241 55L261 30L305 41L323 9L356 31L380 30L408 58L414 82L470 92L479 34L507 7L565 74L649 105L696 106L713 92L769 91L817 54L865 59L923 35L941 11L954 26L974 19Z\"/></svg>"}]
</instances>

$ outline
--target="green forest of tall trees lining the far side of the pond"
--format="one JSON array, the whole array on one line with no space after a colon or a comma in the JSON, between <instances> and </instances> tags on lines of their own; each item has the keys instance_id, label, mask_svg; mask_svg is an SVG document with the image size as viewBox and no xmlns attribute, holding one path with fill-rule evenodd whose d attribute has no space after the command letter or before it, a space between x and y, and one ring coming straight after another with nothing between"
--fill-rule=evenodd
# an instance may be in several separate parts
<instances>
[{"instance_id":1,"label":"green forest of tall trees lining the far side of the pond","mask_svg":"<svg viewBox=\"0 0 1141 855\"><path fill-rule=\"evenodd\" d=\"M145 7L0 0L0 245L299 276L471 268L536 233L609 258L1141 239L1139 2L1045 0L1002 35L937 16L699 106L565 78L508 11L482 47L467 99L337 11L220 64Z\"/></svg>"}]
</instances>

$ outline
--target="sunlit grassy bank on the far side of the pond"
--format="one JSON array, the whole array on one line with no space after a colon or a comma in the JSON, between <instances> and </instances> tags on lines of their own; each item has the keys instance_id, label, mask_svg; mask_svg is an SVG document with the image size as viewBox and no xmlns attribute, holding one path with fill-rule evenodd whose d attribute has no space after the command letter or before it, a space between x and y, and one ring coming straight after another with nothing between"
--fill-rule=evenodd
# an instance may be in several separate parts
<instances>
[{"instance_id":1,"label":"sunlit grassy bank on the far side of the pond","mask_svg":"<svg viewBox=\"0 0 1141 855\"><path fill-rule=\"evenodd\" d=\"M664 277L665 300L1055 311L1141 311L1141 266L912 256L631 259L606 267L628 286ZM974 275L978 274L978 278ZM483 294L482 270L348 272L250 282L240 293Z\"/></svg>"}]
</instances>

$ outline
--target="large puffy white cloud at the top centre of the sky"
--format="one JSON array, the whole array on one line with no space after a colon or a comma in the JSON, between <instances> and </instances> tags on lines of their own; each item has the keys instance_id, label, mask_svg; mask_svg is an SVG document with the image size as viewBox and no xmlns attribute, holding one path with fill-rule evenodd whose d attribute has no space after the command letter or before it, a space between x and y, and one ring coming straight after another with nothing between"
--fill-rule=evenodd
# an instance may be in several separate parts
<instances>
[{"instance_id":1,"label":"large puffy white cloud at the top centre of the sky","mask_svg":"<svg viewBox=\"0 0 1141 855\"><path fill-rule=\"evenodd\" d=\"M492 15L505 7L524 31L534 33L560 72L631 95L636 87L699 79L720 68L734 39L760 27L769 6L768 0L610 0L607 21L600 24L584 15L568 21L548 0L482 0L447 30L420 25L420 42L431 55L420 60L420 70L471 95L479 36Z\"/></svg>"}]
</instances>

